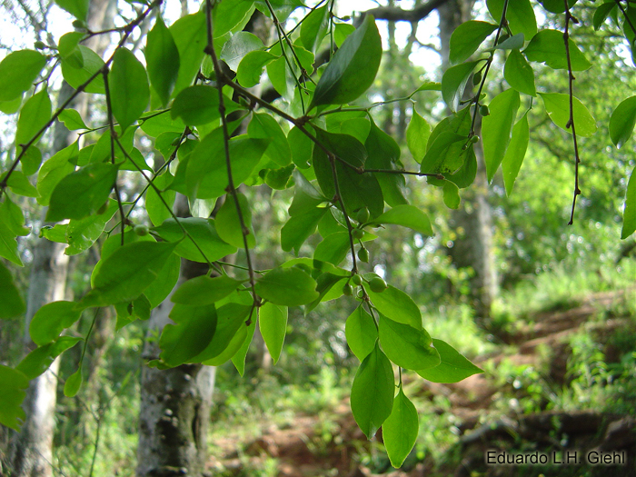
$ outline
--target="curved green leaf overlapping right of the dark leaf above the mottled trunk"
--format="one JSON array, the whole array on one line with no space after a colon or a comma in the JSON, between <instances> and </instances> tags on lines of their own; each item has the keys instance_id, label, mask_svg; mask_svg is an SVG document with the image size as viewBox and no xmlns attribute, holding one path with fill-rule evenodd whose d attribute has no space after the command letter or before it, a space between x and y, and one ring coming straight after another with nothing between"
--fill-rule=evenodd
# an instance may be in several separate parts
<instances>
[{"instance_id":1,"label":"curved green leaf overlapping right of the dark leaf above the mottled trunk","mask_svg":"<svg viewBox=\"0 0 636 477\"><path fill-rule=\"evenodd\" d=\"M204 363L210 366L218 366L229 360L241 347L242 340L245 339L245 321L251 311L251 305L239 303L227 303L218 308L216 310L216 331L212 341L204 351L188 360L188 363ZM243 329L243 338L239 338L237 343L234 340L234 335L240 332L241 329ZM224 353L228 349L232 351Z\"/></svg>"}]
</instances>

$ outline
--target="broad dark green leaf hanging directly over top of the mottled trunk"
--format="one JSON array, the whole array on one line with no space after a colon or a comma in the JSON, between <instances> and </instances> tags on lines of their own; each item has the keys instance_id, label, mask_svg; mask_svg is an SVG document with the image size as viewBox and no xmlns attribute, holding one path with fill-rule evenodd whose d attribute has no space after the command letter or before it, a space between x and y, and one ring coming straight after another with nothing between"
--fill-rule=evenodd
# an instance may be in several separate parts
<instances>
[{"instance_id":1,"label":"broad dark green leaf hanging directly over top of the mottled trunk","mask_svg":"<svg viewBox=\"0 0 636 477\"><path fill-rule=\"evenodd\" d=\"M178 366L194 358L210 344L218 327L214 304L203 306L175 303L170 312L174 324L166 324L159 347L161 359Z\"/></svg>"}]
</instances>

